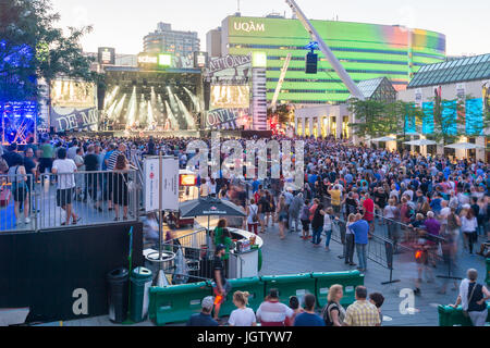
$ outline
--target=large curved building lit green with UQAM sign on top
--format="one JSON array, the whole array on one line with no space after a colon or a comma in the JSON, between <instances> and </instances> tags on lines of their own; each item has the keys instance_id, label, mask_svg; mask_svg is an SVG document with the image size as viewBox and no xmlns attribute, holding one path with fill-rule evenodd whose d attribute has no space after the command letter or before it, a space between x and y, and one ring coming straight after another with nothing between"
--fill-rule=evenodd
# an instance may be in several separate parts
<instances>
[{"instance_id":1,"label":"large curved building lit green with UQAM sign on top","mask_svg":"<svg viewBox=\"0 0 490 348\"><path fill-rule=\"evenodd\" d=\"M360 80L385 76L396 90L405 89L420 66L445 59L445 36L402 26L311 21L347 73ZM270 102L287 53L292 61L279 102L299 104L340 103L350 92L320 51L318 73L305 73L310 38L298 20L284 17L229 16L208 34L208 48L226 54L267 53L267 99ZM213 35L211 35L213 34ZM220 42L216 42L220 40ZM216 54L216 53L215 53Z\"/></svg>"}]
</instances>

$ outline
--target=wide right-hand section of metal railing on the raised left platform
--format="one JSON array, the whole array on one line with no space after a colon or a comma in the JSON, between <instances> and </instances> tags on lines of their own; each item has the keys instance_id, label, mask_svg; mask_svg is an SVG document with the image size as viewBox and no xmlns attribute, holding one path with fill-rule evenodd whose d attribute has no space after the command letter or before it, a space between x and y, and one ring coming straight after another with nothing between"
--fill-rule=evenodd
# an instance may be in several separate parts
<instances>
[{"instance_id":1,"label":"wide right-hand section of metal railing on the raised left platform","mask_svg":"<svg viewBox=\"0 0 490 348\"><path fill-rule=\"evenodd\" d=\"M42 174L39 229L138 220L136 171Z\"/></svg>"}]
</instances>

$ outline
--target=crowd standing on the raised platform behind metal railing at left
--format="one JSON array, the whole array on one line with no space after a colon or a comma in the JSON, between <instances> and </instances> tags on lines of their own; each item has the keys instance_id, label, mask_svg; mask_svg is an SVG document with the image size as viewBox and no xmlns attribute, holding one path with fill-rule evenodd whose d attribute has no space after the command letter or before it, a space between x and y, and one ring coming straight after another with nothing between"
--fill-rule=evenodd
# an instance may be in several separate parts
<instances>
[{"instance_id":1,"label":"crowd standing on the raised platform behind metal railing at left","mask_svg":"<svg viewBox=\"0 0 490 348\"><path fill-rule=\"evenodd\" d=\"M115 221L128 219L128 173L135 166L122 140L44 136L39 144L30 138L27 145L0 146L0 174L5 175L0 206L13 199L15 225L30 223L29 204L36 202L32 198L37 185L46 185L47 191L56 185L56 204L65 216L62 225L81 221L73 208L75 200L91 204L94 214L113 211ZM39 207L34 209L39 211Z\"/></svg>"}]
</instances>

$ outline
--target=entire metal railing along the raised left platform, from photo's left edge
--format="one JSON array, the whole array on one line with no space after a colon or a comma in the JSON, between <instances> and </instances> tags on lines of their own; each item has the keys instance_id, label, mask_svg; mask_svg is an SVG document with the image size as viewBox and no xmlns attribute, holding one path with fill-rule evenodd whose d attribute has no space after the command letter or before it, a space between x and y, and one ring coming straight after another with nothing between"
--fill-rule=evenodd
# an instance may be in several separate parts
<instances>
[{"instance_id":1,"label":"entire metal railing along the raised left platform, from photo's left edge","mask_svg":"<svg viewBox=\"0 0 490 348\"><path fill-rule=\"evenodd\" d=\"M0 232L138 221L137 172L0 175ZM118 213L118 215L117 215Z\"/></svg>"}]
</instances>

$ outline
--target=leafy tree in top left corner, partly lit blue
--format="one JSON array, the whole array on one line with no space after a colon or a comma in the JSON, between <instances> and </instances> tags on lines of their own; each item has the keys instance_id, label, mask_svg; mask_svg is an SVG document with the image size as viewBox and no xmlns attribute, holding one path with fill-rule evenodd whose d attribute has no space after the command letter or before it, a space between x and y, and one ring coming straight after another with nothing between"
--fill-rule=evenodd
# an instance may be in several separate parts
<instances>
[{"instance_id":1,"label":"leafy tree in top left corner, partly lit blue","mask_svg":"<svg viewBox=\"0 0 490 348\"><path fill-rule=\"evenodd\" d=\"M98 80L78 44L91 27L64 36L59 20L50 0L0 0L0 100L38 98L41 79L48 88L58 76Z\"/></svg>"}]
</instances>

